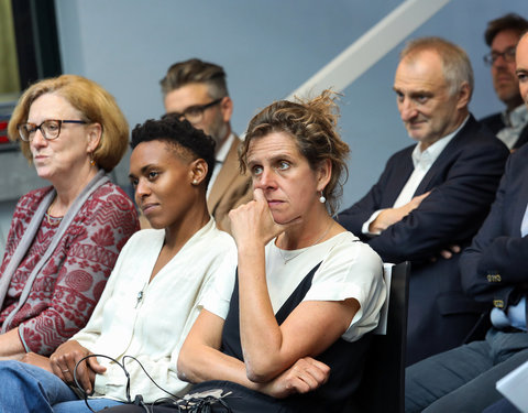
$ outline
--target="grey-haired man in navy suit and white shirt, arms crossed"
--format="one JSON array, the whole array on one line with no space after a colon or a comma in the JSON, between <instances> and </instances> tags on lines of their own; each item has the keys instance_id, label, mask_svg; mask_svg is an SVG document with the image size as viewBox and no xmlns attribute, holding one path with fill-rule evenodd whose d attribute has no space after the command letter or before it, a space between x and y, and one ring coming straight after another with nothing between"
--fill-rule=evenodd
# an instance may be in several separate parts
<instances>
[{"instance_id":1,"label":"grey-haired man in navy suit and white shirt, arms crossed","mask_svg":"<svg viewBox=\"0 0 528 413\"><path fill-rule=\"evenodd\" d=\"M454 44L438 37L410 42L394 90L418 144L394 154L380 181L338 220L385 262L413 262L410 365L460 345L482 313L462 292L459 257L449 249L466 246L481 226L508 150L469 112L473 72Z\"/></svg>"}]
</instances>

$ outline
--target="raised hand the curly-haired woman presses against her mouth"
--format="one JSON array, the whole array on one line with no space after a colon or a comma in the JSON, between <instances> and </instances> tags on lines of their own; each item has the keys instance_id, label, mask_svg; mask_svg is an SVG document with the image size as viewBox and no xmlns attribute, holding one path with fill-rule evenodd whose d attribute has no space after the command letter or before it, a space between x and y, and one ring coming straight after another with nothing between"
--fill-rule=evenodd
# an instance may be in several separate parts
<instances>
[{"instance_id":1,"label":"raised hand the curly-haired woman presses against her mouth","mask_svg":"<svg viewBox=\"0 0 528 413\"><path fill-rule=\"evenodd\" d=\"M229 213L231 231L237 246L265 246L289 225L276 224L262 189L253 191L253 200Z\"/></svg>"}]
</instances>

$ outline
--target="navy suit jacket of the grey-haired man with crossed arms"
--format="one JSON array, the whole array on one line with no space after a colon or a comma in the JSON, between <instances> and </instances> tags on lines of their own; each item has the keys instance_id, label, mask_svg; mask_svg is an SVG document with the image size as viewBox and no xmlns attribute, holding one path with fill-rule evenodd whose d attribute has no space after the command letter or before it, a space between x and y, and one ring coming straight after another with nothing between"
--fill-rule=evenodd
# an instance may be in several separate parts
<instances>
[{"instance_id":1,"label":"navy suit jacket of the grey-haired man with crossed arms","mask_svg":"<svg viewBox=\"0 0 528 413\"><path fill-rule=\"evenodd\" d=\"M402 221L377 237L365 237L363 224L374 211L393 207L413 173L414 148L394 154L371 191L337 218L385 262L411 261L408 365L462 344L483 311L462 292L459 256L446 260L439 252L451 244L470 243L495 198L509 154L503 142L470 116L432 164L415 196L429 191L431 194Z\"/></svg>"}]
</instances>

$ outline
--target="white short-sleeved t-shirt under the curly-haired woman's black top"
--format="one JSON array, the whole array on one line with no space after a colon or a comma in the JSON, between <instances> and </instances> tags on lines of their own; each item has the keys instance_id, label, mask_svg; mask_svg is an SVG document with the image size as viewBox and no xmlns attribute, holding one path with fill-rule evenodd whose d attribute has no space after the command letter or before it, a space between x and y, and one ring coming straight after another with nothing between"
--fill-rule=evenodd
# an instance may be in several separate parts
<instances>
[{"instance_id":1,"label":"white short-sleeved t-shirt under the curly-haired woman's black top","mask_svg":"<svg viewBox=\"0 0 528 413\"><path fill-rule=\"evenodd\" d=\"M360 309L342 335L348 341L355 341L376 328L386 296L383 263L374 250L352 232L341 232L324 242L293 251L279 251L272 240L265 252L267 289L275 314L322 261L304 301L358 300ZM215 290L205 297L204 308L226 318L233 287L234 276L217 280Z\"/></svg>"}]
</instances>

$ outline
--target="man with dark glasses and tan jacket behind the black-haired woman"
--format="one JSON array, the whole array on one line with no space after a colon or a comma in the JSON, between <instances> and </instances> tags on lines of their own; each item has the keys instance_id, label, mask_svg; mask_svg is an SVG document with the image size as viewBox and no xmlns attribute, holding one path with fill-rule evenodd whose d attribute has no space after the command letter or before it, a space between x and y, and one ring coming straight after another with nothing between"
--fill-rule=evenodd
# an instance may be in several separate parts
<instances>
[{"instance_id":1,"label":"man with dark glasses and tan jacket behind the black-haired woman","mask_svg":"<svg viewBox=\"0 0 528 413\"><path fill-rule=\"evenodd\" d=\"M162 85L165 111L179 113L215 139L217 165L207 193L207 206L217 227L230 232L228 213L253 197L249 176L239 171L240 139L231 130L233 101L226 72L219 65L191 58L172 65Z\"/></svg>"}]
</instances>

